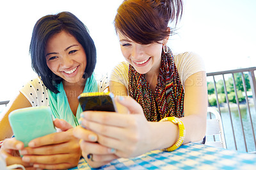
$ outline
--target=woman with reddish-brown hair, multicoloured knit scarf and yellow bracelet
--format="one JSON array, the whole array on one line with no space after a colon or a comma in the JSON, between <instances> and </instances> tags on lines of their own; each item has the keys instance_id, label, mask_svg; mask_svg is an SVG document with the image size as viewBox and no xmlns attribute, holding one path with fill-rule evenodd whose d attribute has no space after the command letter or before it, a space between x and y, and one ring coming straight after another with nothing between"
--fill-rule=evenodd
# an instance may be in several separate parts
<instances>
[{"instance_id":1,"label":"woman with reddish-brown hair, multicoloured knit scarf and yellow bracelet","mask_svg":"<svg viewBox=\"0 0 256 170\"><path fill-rule=\"evenodd\" d=\"M129 95L117 98L129 114L81 114L86 129L76 127L74 135L82 139L82 154L90 166L151 150L173 151L204 138L204 63L192 52L173 55L167 47L182 6L182 0L126 0L119 6L115 29L127 62L113 69L109 88L115 95ZM97 134L93 140L89 132Z\"/></svg>"}]
</instances>

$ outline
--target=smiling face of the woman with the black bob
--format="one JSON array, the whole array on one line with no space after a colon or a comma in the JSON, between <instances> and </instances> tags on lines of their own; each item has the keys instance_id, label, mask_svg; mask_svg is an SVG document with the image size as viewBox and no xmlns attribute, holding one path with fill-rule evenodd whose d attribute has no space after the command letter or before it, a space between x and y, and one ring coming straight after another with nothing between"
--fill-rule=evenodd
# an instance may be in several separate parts
<instances>
[{"instance_id":1,"label":"smiling face of the woman with the black bob","mask_svg":"<svg viewBox=\"0 0 256 170\"><path fill-rule=\"evenodd\" d=\"M65 31L47 40L45 58L49 69L68 83L85 81L86 54L76 38Z\"/></svg>"}]
</instances>

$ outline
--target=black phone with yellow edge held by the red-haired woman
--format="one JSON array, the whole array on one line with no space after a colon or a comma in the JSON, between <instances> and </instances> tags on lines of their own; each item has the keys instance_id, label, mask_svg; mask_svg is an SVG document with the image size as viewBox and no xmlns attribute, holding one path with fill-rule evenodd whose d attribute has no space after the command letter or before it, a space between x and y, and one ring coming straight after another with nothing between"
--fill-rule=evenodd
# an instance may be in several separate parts
<instances>
[{"instance_id":1,"label":"black phone with yellow edge held by the red-haired woman","mask_svg":"<svg viewBox=\"0 0 256 170\"><path fill-rule=\"evenodd\" d=\"M91 92L82 93L78 100L83 111L109 111L115 112L116 106L113 102L113 93Z\"/></svg>"}]
</instances>

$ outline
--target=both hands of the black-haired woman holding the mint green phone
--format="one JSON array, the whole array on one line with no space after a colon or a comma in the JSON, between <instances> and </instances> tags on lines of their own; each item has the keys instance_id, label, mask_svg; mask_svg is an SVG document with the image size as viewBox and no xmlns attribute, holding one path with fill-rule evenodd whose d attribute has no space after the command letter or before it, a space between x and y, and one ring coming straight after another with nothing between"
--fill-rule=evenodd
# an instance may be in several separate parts
<instances>
[{"instance_id":1,"label":"both hands of the black-haired woman holding the mint green phone","mask_svg":"<svg viewBox=\"0 0 256 170\"><path fill-rule=\"evenodd\" d=\"M72 126L64 120L54 120L54 125L62 132L33 139L29 147L15 137L5 139L1 146L1 156L6 165L22 164L26 169L67 169L77 166L81 157L79 140L74 137ZM19 150L22 158L19 156Z\"/></svg>"}]
</instances>

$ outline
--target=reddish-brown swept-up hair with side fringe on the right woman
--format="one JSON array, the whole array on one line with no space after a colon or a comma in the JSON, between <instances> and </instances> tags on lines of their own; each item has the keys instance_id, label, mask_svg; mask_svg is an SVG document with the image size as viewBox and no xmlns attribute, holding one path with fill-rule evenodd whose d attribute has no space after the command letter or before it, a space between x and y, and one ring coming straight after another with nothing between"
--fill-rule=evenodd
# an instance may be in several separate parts
<instances>
[{"instance_id":1,"label":"reddish-brown swept-up hair with side fringe on the right woman","mask_svg":"<svg viewBox=\"0 0 256 170\"><path fill-rule=\"evenodd\" d=\"M116 31L141 44L159 42L170 36L169 22L175 26L182 16L182 0L125 0L114 20Z\"/></svg>"}]
</instances>

